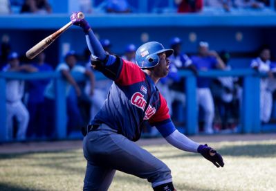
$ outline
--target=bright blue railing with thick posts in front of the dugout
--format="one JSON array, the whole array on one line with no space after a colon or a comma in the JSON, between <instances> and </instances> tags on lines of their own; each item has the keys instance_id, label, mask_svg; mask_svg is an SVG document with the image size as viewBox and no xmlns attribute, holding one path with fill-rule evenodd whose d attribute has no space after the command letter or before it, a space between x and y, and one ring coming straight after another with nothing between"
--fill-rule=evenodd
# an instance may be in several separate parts
<instances>
[{"instance_id":1,"label":"bright blue railing with thick posts in front of the dugout","mask_svg":"<svg viewBox=\"0 0 276 191\"><path fill-rule=\"evenodd\" d=\"M180 71L180 75L185 77L186 107L185 133L193 135L197 133L197 111L196 111L196 76L191 71ZM77 81L86 80L84 75L73 73ZM239 132L242 134L261 132L261 121L259 118L259 82L261 75L251 69L233 70L233 71L199 71L199 76L208 78L217 78L219 76L236 76L243 78L243 102L241 111L241 121ZM66 95L64 80L59 73L15 73L0 72L0 142L5 142L6 134L6 80L38 80L53 78L55 80L55 127L57 138L66 138ZM103 75L97 75L97 80L104 78Z\"/></svg>"}]
</instances>

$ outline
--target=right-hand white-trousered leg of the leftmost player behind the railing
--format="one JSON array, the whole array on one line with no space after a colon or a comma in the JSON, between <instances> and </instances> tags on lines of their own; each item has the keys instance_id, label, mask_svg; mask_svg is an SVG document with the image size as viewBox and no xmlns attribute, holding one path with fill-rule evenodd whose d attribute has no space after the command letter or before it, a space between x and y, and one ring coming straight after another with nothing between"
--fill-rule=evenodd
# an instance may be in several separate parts
<instances>
[{"instance_id":1,"label":"right-hand white-trousered leg of the leftmost player behind the railing","mask_svg":"<svg viewBox=\"0 0 276 191\"><path fill-rule=\"evenodd\" d=\"M18 130L17 130L17 138L19 140L25 140L30 117L29 117L28 110L26 109L25 105L21 101L17 102L16 104L15 116L17 117L17 120L19 122Z\"/></svg>"}]
</instances>

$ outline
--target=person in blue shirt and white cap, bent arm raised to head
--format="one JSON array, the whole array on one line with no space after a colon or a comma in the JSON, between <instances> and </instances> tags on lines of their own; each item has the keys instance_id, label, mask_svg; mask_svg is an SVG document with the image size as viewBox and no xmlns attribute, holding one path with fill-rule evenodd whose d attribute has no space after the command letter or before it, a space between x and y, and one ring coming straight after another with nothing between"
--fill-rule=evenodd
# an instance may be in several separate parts
<instances>
[{"instance_id":1,"label":"person in blue shirt and white cap, bent arm raised to head","mask_svg":"<svg viewBox=\"0 0 276 191\"><path fill-rule=\"evenodd\" d=\"M208 42L199 42L199 53L191 57L192 64L198 71L209 71L211 69L224 69L225 64L216 51L209 50ZM203 108L204 111L204 132L205 134L213 134L213 120L214 120L214 100L210 91L210 78L197 78L197 104Z\"/></svg>"}]
</instances>

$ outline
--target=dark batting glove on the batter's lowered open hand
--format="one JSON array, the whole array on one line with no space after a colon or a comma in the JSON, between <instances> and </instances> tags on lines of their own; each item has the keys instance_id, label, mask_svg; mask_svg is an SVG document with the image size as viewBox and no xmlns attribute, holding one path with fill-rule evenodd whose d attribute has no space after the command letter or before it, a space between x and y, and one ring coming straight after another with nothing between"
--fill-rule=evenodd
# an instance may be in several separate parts
<instances>
[{"instance_id":1,"label":"dark batting glove on the batter's lowered open hand","mask_svg":"<svg viewBox=\"0 0 276 191\"><path fill-rule=\"evenodd\" d=\"M205 145L199 145L197 148L197 152L199 152L204 158L206 158L208 161L211 161L216 167L223 167L223 158L215 149L212 149L211 147L208 147L207 144Z\"/></svg>"}]
</instances>

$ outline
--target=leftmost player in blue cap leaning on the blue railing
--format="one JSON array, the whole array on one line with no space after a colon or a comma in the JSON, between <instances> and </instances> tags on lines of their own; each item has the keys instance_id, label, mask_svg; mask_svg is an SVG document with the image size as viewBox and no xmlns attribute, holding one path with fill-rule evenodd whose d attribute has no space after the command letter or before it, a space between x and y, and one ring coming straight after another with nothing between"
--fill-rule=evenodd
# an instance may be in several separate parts
<instances>
[{"instance_id":1,"label":"leftmost player in blue cap leaning on the blue railing","mask_svg":"<svg viewBox=\"0 0 276 191\"><path fill-rule=\"evenodd\" d=\"M22 64L20 65L19 55L12 52L8 55L8 64L3 67L5 72L28 72L37 71L35 67ZM8 140L13 138L13 118L17 118L18 129L16 139L26 140L26 131L29 121L29 113L26 106L21 101L24 96L24 81L23 80L7 80L6 82L6 109L7 109L7 129Z\"/></svg>"}]
</instances>

